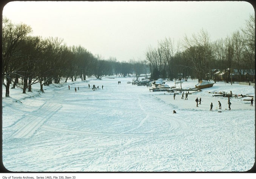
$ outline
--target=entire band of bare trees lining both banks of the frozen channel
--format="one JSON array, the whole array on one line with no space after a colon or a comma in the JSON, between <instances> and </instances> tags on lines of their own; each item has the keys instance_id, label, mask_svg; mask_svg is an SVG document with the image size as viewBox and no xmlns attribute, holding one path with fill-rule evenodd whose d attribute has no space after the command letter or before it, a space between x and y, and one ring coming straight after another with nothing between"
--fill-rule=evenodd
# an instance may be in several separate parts
<instances>
[{"instance_id":1,"label":"entire band of bare trees lining both banks of the frozen channel","mask_svg":"<svg viewBox=\"0 0 256 179\"><path fill-rule=\"evenodd\" d=\"M150 73L151 79L212 79L213 69L228 69L226 81L235 70L242 80L245 70L253 74L255 81L255 19L250 15L245 28L237 30L225 39L210 40L205 30L185 35L174 45L165 38L157 48L148 47L144 61L118 62L116 58L103 59L82 46L68 47L60 38L29 35L32 28L26 24L13 24L4 17L2 24L2 82L9 97L9 87L31 91L31 85L59 83L60 79L101 79L103 76L127 76ZM6 79L6 80L4 80Z\"/></svg>"}]
</instances>

